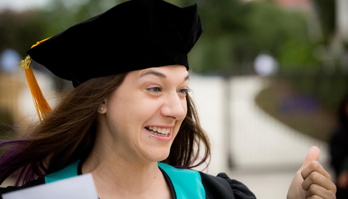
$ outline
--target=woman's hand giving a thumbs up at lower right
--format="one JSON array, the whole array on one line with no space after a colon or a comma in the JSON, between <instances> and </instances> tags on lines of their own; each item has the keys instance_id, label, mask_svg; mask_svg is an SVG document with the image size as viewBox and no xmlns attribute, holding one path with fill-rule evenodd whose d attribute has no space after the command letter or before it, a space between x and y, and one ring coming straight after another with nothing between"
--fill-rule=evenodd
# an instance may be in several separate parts
<instances>
[{"instance_id":1,"label":"woman's hand giving a thumbs up at lower right","mask_svg":"<svg viewBox=\"0 0 348 199\"><path fill-rule=\"evenodd\" d=\"M287 199L336 199L336 186L319 164L320 150L313 146L291 182Z\"/></svg>"}]
</instances>

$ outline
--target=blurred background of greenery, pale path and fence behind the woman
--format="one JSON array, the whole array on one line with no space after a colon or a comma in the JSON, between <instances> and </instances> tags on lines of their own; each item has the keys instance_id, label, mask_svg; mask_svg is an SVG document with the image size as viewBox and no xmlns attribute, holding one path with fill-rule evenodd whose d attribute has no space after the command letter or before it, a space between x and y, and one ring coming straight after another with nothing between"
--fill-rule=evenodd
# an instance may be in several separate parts
<instances>
[{"instance_id":1,"label":"blurred background of greenery, pale path and fence behind the woman","mask_svg":"<svg viewBox=\"0 0 348 199\"><path fill-rule=\"evenodd\" d=\"M37 117L18 68L26 50L123 1L0 0L1 138L11 137L6 124L25 126ZM213 146L205 171L226 172L258 199L285 198L316 145L336 182L330 142L337 129L348 134L341 105L348 94L348 1L167 1L197 3L204 26L188 56L190 95ZM51 104L57 92L72 89L43 66L32 67Z\"/></svg>"}]
</instances>

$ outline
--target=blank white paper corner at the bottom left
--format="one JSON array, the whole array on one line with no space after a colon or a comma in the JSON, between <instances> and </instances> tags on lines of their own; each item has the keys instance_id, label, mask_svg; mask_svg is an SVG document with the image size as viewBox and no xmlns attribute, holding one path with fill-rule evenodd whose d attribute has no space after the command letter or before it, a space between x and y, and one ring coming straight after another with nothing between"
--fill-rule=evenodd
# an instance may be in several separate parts
<instances>
[{"instance_id":1,"label":"blank white paper corner at the bottom left","mask_svg":"<svg viewBox=\"0 0 348 199\"><path fill-rule=\"evenodd\" d=\"M91 174L1 195L2 199L97 199Z\"/></svg>"}]
</instances>

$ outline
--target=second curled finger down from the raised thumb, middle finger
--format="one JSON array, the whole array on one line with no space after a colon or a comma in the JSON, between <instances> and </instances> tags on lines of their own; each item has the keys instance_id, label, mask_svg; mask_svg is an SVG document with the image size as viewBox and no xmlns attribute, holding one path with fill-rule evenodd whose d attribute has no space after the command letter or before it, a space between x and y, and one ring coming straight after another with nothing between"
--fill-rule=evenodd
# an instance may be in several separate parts
<instances>
[{"instance_id":1,"label":"second curled finger down from the raised thumb, middle finger","mask_svg":"<svg viewBox=\"0 0 348 199\"><path fill-rule=\"evenodd\" d=\"M309 187L312 184L319 185L327 190L332 190L336 193L336 186L333 182L331 182L328 178L321 175L318 172L312 172L308 178L306 178L302 183L302 189L308 191Z\"/></svg>"}]
</instances>

